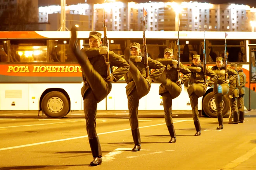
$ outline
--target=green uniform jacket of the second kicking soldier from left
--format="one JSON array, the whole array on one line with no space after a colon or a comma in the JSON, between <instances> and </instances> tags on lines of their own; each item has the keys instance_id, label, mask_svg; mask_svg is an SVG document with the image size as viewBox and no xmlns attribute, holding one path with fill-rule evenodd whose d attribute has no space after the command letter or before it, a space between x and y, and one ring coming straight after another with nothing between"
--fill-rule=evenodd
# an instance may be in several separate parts
<instances>
[{"instance_id":1,"label":"green uniform jacket of the second kicking soldier from left","mask_svg":"<svg viewBox=\"0 0 256 170\"><path fill-rule=\"evenodd\" d=\"M142 53L140 53L139 55L142 56L142 60L140 62L135 62L134 61L135 57L133 56L130 56L130 60L138 68L140 73L146 78L146 66L144 64L144 55ZM149 69L154 69L154 71L149 75L149 77L152 79L152 82L154 82L156 78L163 73L164 66L158 61L151 59L150 57L148 57L148 63L149 63ZM131 93L131 91L135 88L135 83L133 82L130 72L127 72L124 77L125 77L125 82L127 83L126 95L128 96Z\"/></svg>"}]
</instances>

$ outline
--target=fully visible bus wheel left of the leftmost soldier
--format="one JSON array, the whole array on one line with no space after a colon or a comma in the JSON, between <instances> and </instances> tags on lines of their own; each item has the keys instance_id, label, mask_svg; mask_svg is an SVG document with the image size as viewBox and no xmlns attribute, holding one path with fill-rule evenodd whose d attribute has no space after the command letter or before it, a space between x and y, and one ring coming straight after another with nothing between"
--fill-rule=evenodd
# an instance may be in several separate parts
<instances>
[{"instance_id":1,"label":"fully visible bus wheel left of the leftmost soldier","mask_svg":"<svg viewBox=\"0 0 256 170\"><path fill-rule=\"evenodd\" d=\"M61 118L69 112L67 97L61 92L49 92L42 100L43 113L50 118Z\"/></svg>"}]
</instances>

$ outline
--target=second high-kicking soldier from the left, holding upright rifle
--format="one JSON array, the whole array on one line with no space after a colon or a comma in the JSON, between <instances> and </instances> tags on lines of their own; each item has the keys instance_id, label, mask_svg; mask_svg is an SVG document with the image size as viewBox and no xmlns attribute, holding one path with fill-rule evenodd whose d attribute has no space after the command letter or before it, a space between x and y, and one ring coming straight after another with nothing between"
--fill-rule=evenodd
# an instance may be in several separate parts
<instances>
[{"instance_id":1,"label":"second high-kicking soldier from the left, holding upright rifle","mask_svg":"<svg viewBox=\"0 0 256 170\"><path fill-rule=\"evenodd\" d=\"M127 83L125 88L128 98L131 134L135 144L131 151L139 151L141 148L140 131L138 128L139 100L149 93L151 83L154 82L164 71L164 66L161 63L148 58L149 68L153 68L155 70L146 77L146 66L144 64L143 56L140 44L137 42L130 44L130 50L128 48L125 49L125 60L130 65L130 70L125 75L125 82Z\"/></svg>"}]
</instances>

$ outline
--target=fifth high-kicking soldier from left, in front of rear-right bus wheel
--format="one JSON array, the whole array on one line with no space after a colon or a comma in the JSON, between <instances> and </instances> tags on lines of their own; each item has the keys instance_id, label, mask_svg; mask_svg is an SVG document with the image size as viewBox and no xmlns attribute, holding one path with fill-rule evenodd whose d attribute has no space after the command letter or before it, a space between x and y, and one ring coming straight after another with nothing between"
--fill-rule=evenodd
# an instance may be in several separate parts
<instances>
[{"instance_id":1,"label":"fifth high-kicking soldier from left, in front of rear-right bus wheel","mask_svg":"<svg viewBox=\"0 0 256 170\"><path fill-rule=\"evenodd\" d=\"M217 80L214 82L213 93L215 104L217 108L217 117L219 126L217 129L223 129L223 117L222 117L222 98L226 95L229 90L228 83L234 82L237 79L237 72L227 68L227 73L225 71L225 65L221 57L216 58L216 65L211 68L218 76ZM230 75L229 79L226 80L226 74Z\"/></svg>"}]
</instances>

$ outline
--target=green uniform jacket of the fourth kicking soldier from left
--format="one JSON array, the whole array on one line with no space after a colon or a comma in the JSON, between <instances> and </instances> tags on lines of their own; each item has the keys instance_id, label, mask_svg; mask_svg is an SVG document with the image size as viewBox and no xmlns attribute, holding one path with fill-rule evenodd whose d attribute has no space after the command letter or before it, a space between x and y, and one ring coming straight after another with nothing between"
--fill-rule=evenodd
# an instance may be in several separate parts
<instances>
[{"instance_id":1,"label":"green uniform jacket of the fourth kicking soldier from left","mask_svg":"<svg viewBox=\"0 0 256 170\"><path fill-rule=\"evenodd\" d=\"M197 72L196 71L197 67L201 67L202 70L200 72ZM191 76L189 78L189 84L192 84L192 83L202 83L202 84L206 85L204 83L204 68L201 65L201 63L199 63L197 66L195 66L194 63L192 63L192 65L191 66L187 66L187 68L191 71ZM208 82L207 82L208 86L211 87L211 85L213 85L213 83L218 78L218 76L210 68L206 68L206 75L211 77L210 80L208 80Z\"/></svg>"}]
</instances>

